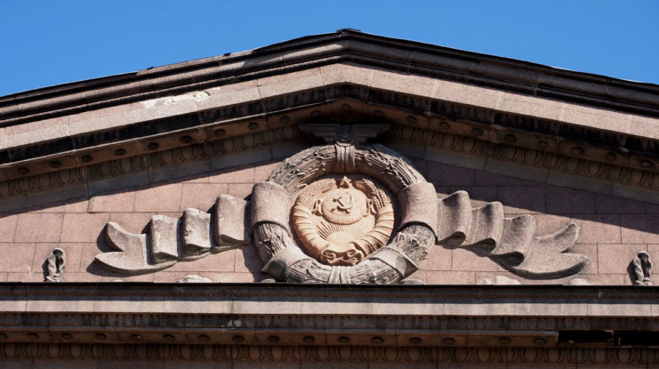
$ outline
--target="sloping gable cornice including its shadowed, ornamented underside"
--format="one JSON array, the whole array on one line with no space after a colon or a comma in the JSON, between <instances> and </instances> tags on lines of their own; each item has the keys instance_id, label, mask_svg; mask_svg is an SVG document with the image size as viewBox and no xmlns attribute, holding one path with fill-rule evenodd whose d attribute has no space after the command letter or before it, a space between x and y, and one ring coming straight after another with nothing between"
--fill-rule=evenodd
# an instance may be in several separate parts
<instances>
[{"instance_id":1,"label":"sloping gable cornice including its shadowed, ornamented underside","mask_svg":"<svg viewBox=\"0 0 659 369\"><path fill-rule=\"evenodd\" d=\"M652 84L345 30L0 98L0 197L329 123L393 124L385 143L408 156L657 202L657 106Z\"/></svg>"}]
</instances>

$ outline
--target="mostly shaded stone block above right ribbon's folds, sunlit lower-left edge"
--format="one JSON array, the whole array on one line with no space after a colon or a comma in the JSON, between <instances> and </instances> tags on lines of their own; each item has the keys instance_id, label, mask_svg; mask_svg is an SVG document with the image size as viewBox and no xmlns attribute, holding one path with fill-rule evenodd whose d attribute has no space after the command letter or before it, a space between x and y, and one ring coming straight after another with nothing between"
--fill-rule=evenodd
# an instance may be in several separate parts
<instances>
[{"instance_id":1,"label":"mostly shaded stone block above right ribbon's folds, sunlit lower-left edge","mask_svg":"<svg viewBox=\"0 0 659 369\"><path fill-rule=\"evenodd\" d=\"M530 214L546 212L545 188L542 186L499 187L497 197L503 204L503 213Z\"/></svg>"}]
</instances>

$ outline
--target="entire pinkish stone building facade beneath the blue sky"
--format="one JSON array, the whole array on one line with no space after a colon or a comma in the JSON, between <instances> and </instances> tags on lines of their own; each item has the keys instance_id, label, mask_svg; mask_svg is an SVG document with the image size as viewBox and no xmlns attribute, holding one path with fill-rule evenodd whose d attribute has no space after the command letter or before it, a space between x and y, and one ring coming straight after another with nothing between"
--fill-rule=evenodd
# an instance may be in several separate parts
<instances>
[{"instance_id":1,"label":"entire pinkish stone building facade beneath the blue sky","mask_svg":"<svg viewBox=\"0 0 659 369\"><path fill-rule=\"evenodd\" d=\"M655 84L340 30L0 123L9 367L659 366Z\"/></svg>"}]
</instances>

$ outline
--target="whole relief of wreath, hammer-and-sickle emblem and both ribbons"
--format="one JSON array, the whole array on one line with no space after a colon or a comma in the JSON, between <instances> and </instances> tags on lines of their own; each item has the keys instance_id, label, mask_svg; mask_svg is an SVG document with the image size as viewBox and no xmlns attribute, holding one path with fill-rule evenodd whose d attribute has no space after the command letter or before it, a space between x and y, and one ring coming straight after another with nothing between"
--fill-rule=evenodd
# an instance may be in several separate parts
<instances>
[{"instance_id":1,"label":"whole relief of wreath, hammer-and-sickle emblem and both ribbons","mask_svg":"<svg viewBox=\"0 0 659 369\"><path fill-rule=\"evenodd\" d=\"M154 216L149 235L110 222L106 236L117 252L96 260L117 272L148 273L253 245L277 281L342 284L398 283L438 244L469 247L522 277L566 277L588 264L569 253L574 223L538 237L532 216L505 218L501 203L473 208L464 191L438 198L403 156L363 144L374 135L364 127L315 124L329 144L279 164L254 185L250 201L221 195L213 214Z\"/></svg>"}]
</instances>

